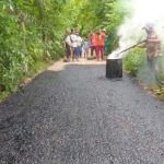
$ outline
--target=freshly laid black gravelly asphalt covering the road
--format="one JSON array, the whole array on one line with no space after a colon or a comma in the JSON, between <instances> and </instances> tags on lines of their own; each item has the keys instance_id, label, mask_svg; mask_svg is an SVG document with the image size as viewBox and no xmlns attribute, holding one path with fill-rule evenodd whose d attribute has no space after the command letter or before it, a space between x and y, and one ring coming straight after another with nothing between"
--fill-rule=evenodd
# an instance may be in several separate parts
<instances>
[{"instance_id":1,"label":"freshly laid black gravelly asphalt covering the road","mask_svg":"<svg viewBox=\"0 0 164 164\"><path fill-rule=\"evenodd\" d=\"M105 66L44 71L0 104L0 164L164 164L164 104Z\"/></svg>"}]
</instances>

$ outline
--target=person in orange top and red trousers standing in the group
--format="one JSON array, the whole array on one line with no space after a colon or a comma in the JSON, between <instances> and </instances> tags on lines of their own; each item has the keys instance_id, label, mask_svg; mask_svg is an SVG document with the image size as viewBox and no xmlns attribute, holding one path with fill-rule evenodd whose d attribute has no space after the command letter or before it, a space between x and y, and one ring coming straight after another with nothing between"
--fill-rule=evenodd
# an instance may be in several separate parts
<instances>
[{"instance_id":1,"label":"person in orange top and red trousers standing in the group","mask_svg":"<svg viewBox=\"0 0 164 164\"><path fill-rule=\"evenodd\" d=\"M103 47L104 47L105 37L106 37L106 34L102 30L96 31L96 58L97 58L97 61L98 60L102 61L104 59Z\"/></svg>"}]
</instances>

